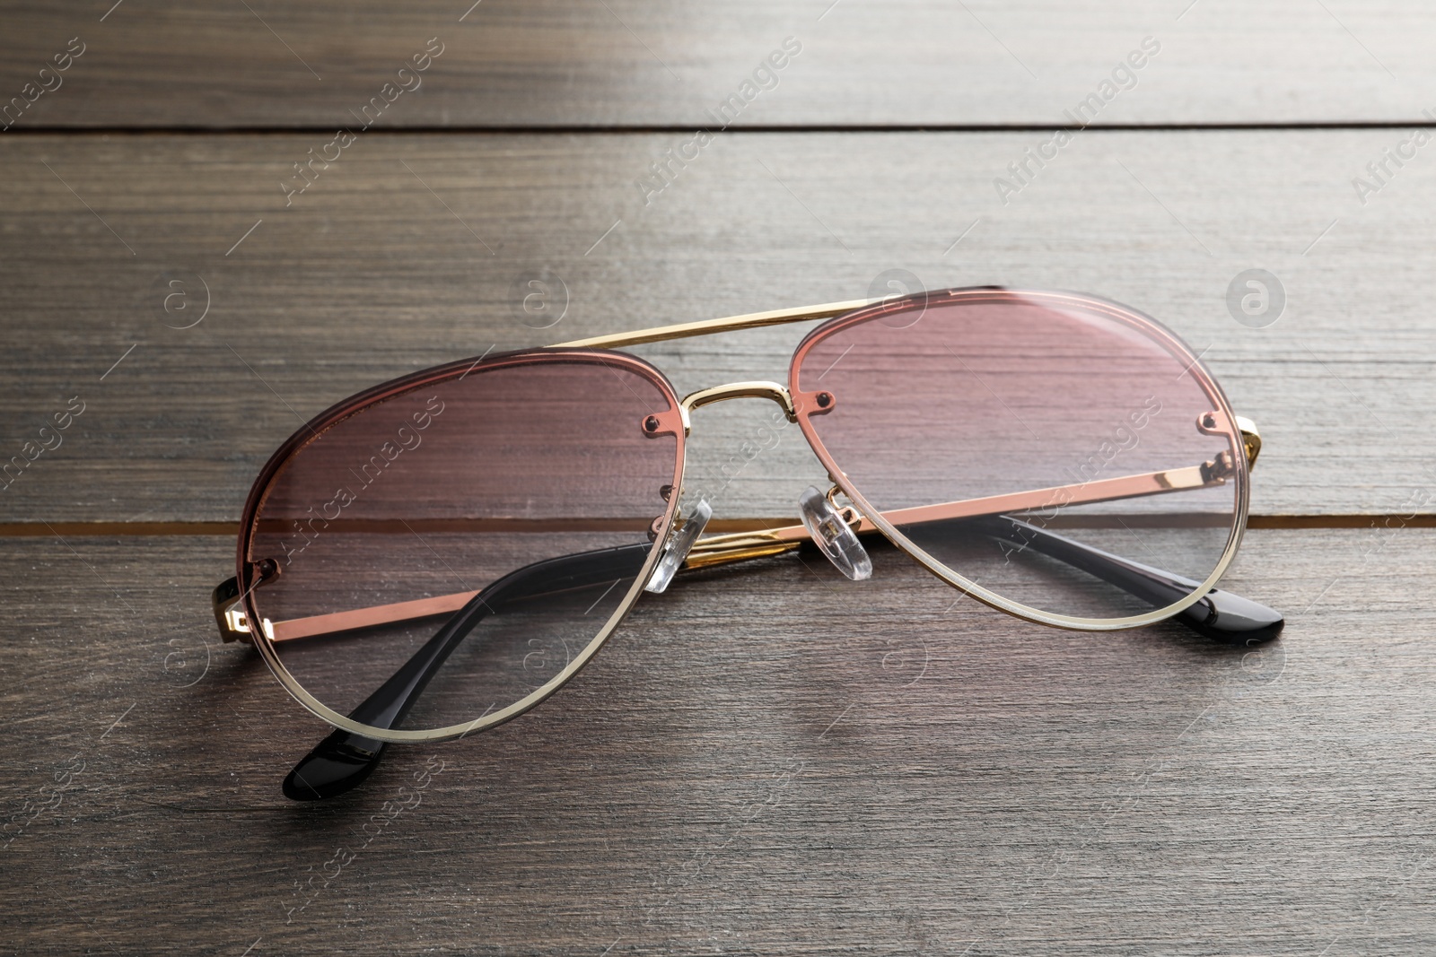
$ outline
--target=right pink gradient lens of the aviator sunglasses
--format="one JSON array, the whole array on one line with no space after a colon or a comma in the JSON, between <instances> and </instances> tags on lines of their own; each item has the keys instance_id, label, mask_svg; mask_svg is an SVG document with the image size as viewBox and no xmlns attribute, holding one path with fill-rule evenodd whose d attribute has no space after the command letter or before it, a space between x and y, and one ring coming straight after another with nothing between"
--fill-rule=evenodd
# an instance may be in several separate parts
<instances>
[{"instance_id":1,"label":"right pink gradient lens of the aviator sunglasses","mask_svg":"<svg viewBox=\"0 0 1436 957\"><path fill-rule=\"evenodd\" d=\"M1027 610L1150 614L1235 541L1246 473L1226 402L1124 307L935 293L816 330L791 382L830 468L939 571Z\"/></svg>"}]
</instances>

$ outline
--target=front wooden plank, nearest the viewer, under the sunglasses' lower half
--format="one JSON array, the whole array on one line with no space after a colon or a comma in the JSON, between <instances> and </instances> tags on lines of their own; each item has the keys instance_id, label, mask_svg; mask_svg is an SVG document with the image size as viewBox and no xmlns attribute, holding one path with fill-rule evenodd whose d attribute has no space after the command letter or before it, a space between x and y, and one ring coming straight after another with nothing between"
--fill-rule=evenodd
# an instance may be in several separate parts
<instances>
[{"instance_id":1,"label":"front wooden plank, nearest the viewer, under the sunglasses' lower half","mask_svg":"<svg viewBox=\"0 0 1436 957\"><path fill-rule=\"evenodd\" d=\"M1021 624L890 551L860 585L714 570L534 713L320 806L279 779L322 726L213 634L225 539L13 539L6 941L1427 953L1432 538L1249 534L1228 584L1288 613L1252 654ZM385 802L415 806L369 838Z\"/></svg>"}]
</instances>

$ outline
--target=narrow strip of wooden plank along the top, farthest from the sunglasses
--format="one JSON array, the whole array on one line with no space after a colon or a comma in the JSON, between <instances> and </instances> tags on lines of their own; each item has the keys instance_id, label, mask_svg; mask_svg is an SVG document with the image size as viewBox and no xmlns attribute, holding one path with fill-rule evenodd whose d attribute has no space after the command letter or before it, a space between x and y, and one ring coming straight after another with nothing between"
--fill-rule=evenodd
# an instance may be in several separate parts
<instances>
[{"instance_id":1,"label":"narrow strip of wooden plank along the top, farthest from the sunglasses","mask_svg":"<svg viewBox=\"0 0 1436 957\"><path fill-rule=\"evenodd\" d=\"M1057 126L1094 93L1109 125L1419 123L1436 82L1420 0L102 6L4 4L0 93L34 99L16 128L330 129L381 95L391 128L707 126L785 37L801 53L742 125ZM42 77L72 37L82 57ZM439 59L401 77L431 39Z\"/></svg>"}]
</instances>

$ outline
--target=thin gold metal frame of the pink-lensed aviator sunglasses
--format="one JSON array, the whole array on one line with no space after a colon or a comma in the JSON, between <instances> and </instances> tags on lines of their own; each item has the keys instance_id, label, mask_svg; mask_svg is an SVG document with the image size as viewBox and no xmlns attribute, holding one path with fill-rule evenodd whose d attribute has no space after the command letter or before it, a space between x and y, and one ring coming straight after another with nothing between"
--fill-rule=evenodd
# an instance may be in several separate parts
<instances>
[{"instance_id":1,"label":"thin gold metal frame of the pink-lensed aviator sunglasses","mask_svg":"<svg viewBox=\"0 0 1436 957\"><path fill-rule=\"evenodd\" d=\"M1116 303L1106 303L1104 300L1097 300L1094 297L1074 296L1064 293L1021 293L1021 291L992 290L992 288L949 290L948 293L935 293L932 296L948 296L954 298L987 297L987 296L998 296L998 297L1018 296L1018 297L1034 297L1040 300L1070 300L1074 303L1080 301L1087 308L1091 308L1093 306L1100 307L1103 311L1110 313L1116 319L1142 327L1143 331L1156 333L1160 339L1165 340L1165 344L1167 346L1169 352L1189 359L1190 367L1200 366L1200 360L1190 353L1186 344L1182 343L1179 337L1166 330L1156 320L1134 313L1126 307L1117 306ZM465 366L464 363L454 363L442 369L431 370L431 373L434 374L431 374L428 380L439 379L444 374L448 374L449 372L460 367L467 369L464 374L468 374L468 372L474 372L478 367L487 369L495 364L507 364L513 362L524 362L526 359L537 359L537 356L540 354L546 353L551 354L551 350L560 350L560 349L573 350L576 354L592 356L595 350L613 350L613 349L623 349L628 346L639 346L645 343L689 339L695 336L709 336L715 333L734 331L742 329L758 329L765 326L781 326L788 323L834 319L839 316L844 317L844 321L841 324L847 326L850 323L866 321L867 319L872 319L876 314L883 314L889 308L900 307L900 303L902 300L899 300L898 306L895 306L889 300L850 300L841 303L826 303L820 306L806 306L798 308L771 310L765 313L748 313L742 316L729 316L724 319L711 319L695 323L681 323L675 326L659 326L628 333L613 333L607 336L593 336L587 339L557 343L553 346L547 346L541 350L530 350L527 353L514 353L510 356L495 356L488 362L474 363L470 366ZM1249 504L1248 475L1251 466L1255 465L1256 462L1258 453L1261 452L1261 435L1255 423L1252 423L1249 419L1235 416L1231 412L1231 407L1226 403L1226 397L1222 395L1221 389L1215 386L1215 380L1208 374L1203 376L1203 379L1199 382L1202 382L1203 389L1206 389L1209 397L1213 402L1213 406L1222 413L1225 413L1228 416L1228 420L1235 422L1241 432L1241 435L1236 436L1241 440L1241 448L1244 452L1244 455L1241 456L1242 462L1239 466L1236 466L1235 469L1229 469L1226 473L1223 473L1222 469L1216 468L1218 465L1216 462L1205 462L1180 469L1172 469L1167 472L1153 472L1144 475L1122 476L1116 479L1104 479L1100 482L1088 482L1086 486L1083 486L1086 495L1083 495L1083 498L1080 499L1083 502L1096 502L1096 501L1110 501L1114 498L1130 498L1134 495L1155 495L1169 491L1202 488L1212 484L1225 484L1228 478L1235 478L1238 506L1234 519L1234 528L1228 538L1226 548L1223 550L1223 554L1213 572L1208 577L1205 583L1202 583L1202 587L1195 590L1186 600L1179 601L1173 605L1167 605L1165 608L1153 610L1152 613L1147 614L1132 616L1126 618L1077 618L1070 616L1045 613L1038 608L1031 608L1014 603L1011 600L1002 598L1001 595L989 593L985 588L981 588L975 583L968 581L966 578L958 575L956 572L952 572L945 565L942 565L942 562L939 562L936 558L933 558L922 548L919 548L916 544L913 544L906 535L903 535L896 528L896 525L912 521L922 521L925 518L955 518L964 515L994 514L998 511L1043 508L1051 504L1051 501L1054 501L1055 494L1076 486L1034 489L1031 492L989 496L987 499L969 499L965 502L948 502L948 504L929 505L913 509L900 509L887 514L877 511L876 508L873 508L870 502L867 502L866 498L863 498L859 489L852 486L852 484L847 481L847 476L831 461L831 458L827 453L827 449L823 446L823 442L814 432L808 416L813 412L820 412L820 409L817 409L814 405L810 405L813 396L798 395L793 387L794 377L798 372L798 363L801 360L803 353L806 352L807 347L810 347L814 341L817 341L819 333L827 334L829 331L831 331L830 326L831 324L824 324L819 330L813 330L808 334L808 337L806 337L803 343L798 346L798 350L793 356L788 374L790 382L787 386L775 382L735 382L721 386L712 386L708 389L701 389L698 392L689 393L682 399L676 399L676 396L672 393L672 386L666 382L666 377L658 373L658 370L653 370L652 366L642 363L642 360L623 356L622 353L609 353L609 356L613 356L615 359L622 356L620 362L625 362L625 364L632 363L635 366L642 366L646 367L648 370L652 370L652 373L656 374L659 380L662 380L665 392L671 396L672 409L662 416L665 422L661 433L672 432L678 442L676 481L673 485L675 489L682 488L682 475L685 469L684 439L692 430L691 412L704 407L707 405L712 405L715 402L725 402L729 399L740 399L740 397L761 397L775 402L783 409L788 420L796 422L800 426L810 446L813 448L814 453L827 466L829 475L833 478L834 488L829 492L829 495L831 496L833 492L840 489L854 504L856 508L850 506L844 509L844 519L849 521L849 524L853 527L854 531L857 531L859 534L882 532L898 548L912 555L929 571L932 571L936 577L965 591L966 594L971 594L979 601L991 607L999 608L1002 611L1007 611L1008 614L1012 614L1015 617L1055 627L1091 630L1091 631L1133 628L1150 624L1153 621L1169 618L1173 614L1180 613L1183 608L1200 600L1200 597L1205 595L1212 585L1215 585L1215 583L1221 578L1222 572L1231 564L1231 560L1235 557L1236 548L1241 542L1242 529L1245 528L1246 524L1246 511ZM422 376L424 373L419 374ZM409 382L409 379L412 377L406 377L405 380L401 382ZM1208 385L1211 385L1211 387L1208 387ZM382 386L379 389L382 389ZM675 412L676 416L673 416ZM671 420L671 416L676 418L676 420ZM281 453L284 452L286 449L277 452L276 459L280 459ZM271 466L276 459L271 459ZM271 478L267 473L271 466L266 466L266 472L261 473L260 479L256 482L256 489L251 492L251 502L246 505L246 517L254 514L253 506L256 505L256 496L258 496L258 499L263 499L264 494L263 486ZM416 730L416 732L383 730L383 729L369 727L366 725L359 725L350 720L349 717L339 715L337 712L333 712L332 709L316 700L312 694L309 694L309 692L306 692L303 686L280 663L279 656L274 651L273 643L290 638L300 638L312 634L333 633L348 627L356 627L353 623L362 626L362 624L372 624L376 621L396 621L396 620L451 613L458 607L462 607L472 597L474 593L441 595L421 601L398 603L395 605L378 605L372 608L359 608L346 613L336 613L333 616L320 616L320 618L325 618L325 621L296 620L296 621L271 623L269 620L263 620L261 626L264 637L260 640L254 640L256 638L256 636L253 634L254 630L250 624L254 620L253 605L248 604L253 587L247 590L241 587L236 590L236 593L238 594L231 595L230 593L225 593L223 601L220 598L220 593L217 591L215 617L220 623L221 633L225 634L225 640L240 638L253 641L258 647L266 663L274 671L276 677L280 680L284 689L290 694L293 694L296 700L304 704L310 712L313 712L314 715L317 715L319 717L322 717L323 720L336 727L391 742L432 742L451 737L461 737L478 730L485 730L495 725L511 720L518 715L523 715L524 712L527 712L528 709L534 707L536 704L547 699L550 694L553 694L559 687L567 683L584 664L587 664L587 661L603 646L603 643L617 627L622 618L628 614L628 611L632 608L639 594L642 593L643 584L648 581L648 577L652 574L652 570L658 562L658 557L661 552L659 544L666 538L668 528L673 524L676 518L678 502L679 502L679 494L675 492L673 495L671 495L669 508L662 517L661 522L662 528L656 529L659 532L658 542L655 542L653 551L651 552L648 561L645 562L643 570L639 572L639 577L635 580L633 587L629 590L629 594L625 597L622 605L613 613L609 621L605 623L600 633L577 656L574 656L574 659L567 664L567 667L564 667L563 671L560 671L556 677L553 677L541 687L531 692L520 702L510 704L501 712L495 712L478 720L462 725L454 725L449 727L441 727L434 730ZM919 515L919 512L922 515ZM684 568L704 568L718 564L728 564L734 561L745 561L750 558L760 558L764 555L774 555L798 548L807 538L808 532L801 524L785 525L771 529L709 535L707 538L699 538L696 541L696 544L692 547L684 562ZM238 581L241 585L246 584L246 577L244 577L246 555L243 554L243 550L247 539L248 539L248 532L247 527L244 527L241 528L241 535L240 535L241 554L240 554ZM223 588L224 585L221 585L221 590Z\"/></svg>"}]
</instances>

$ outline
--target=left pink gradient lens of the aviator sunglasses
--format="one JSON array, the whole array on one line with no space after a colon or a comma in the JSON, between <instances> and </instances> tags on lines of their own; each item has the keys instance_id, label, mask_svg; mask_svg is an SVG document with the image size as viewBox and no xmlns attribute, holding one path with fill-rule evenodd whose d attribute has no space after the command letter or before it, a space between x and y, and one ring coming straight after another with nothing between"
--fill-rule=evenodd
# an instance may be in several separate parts
<instances>
[{"instance_id":1,"label":"left pink gradient lens of the aviator sunglasses","mask_svg":"<svg viewBox=\"0 0 1436 957\"><path fill-rule=\"evenodd\" d=\"M253 611L279 663L335 712L404 730L543 689L630 603L678 482L679 439L652 428L668 413L635 362L543 356L320 425L254 499L247 558L277 574Z\"/></svg>"}]
</instances>

